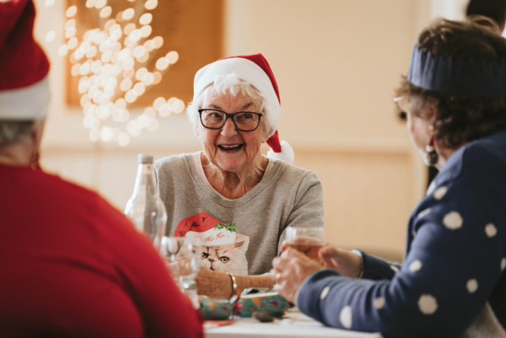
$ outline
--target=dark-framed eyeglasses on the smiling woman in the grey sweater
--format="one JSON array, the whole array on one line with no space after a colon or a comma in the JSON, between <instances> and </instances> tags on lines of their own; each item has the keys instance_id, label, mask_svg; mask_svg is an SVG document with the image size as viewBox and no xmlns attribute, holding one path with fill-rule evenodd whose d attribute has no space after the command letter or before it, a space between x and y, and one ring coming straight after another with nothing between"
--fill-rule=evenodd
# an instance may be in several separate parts
<instances>
[{"instance_id":1,"label":"dark-framed eyeglasses on the smiling woman in the grey sweater","mask_svg":"<svg viewBox=\"0 0 506 338\"><path fill-rule=\"evenodd\" d=\"M219 109L199 109L200 122L208 129L220 129L225 125L228 118L231 118L240 131L254 131L259 127L262 113L254 113L253 111L238 111L229 114Z\"/></svg>"}]
</instances>

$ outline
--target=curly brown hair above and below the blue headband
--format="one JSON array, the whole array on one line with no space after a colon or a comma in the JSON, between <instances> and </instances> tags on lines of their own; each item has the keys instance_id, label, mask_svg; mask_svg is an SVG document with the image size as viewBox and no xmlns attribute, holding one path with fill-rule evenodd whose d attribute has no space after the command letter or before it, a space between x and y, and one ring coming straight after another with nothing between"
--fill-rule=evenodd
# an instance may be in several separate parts
<instances>
[{"instance_id":1,"label":"curly brown hair above and below the blue headband","mask_svg":"<svg viewBox=\"0 0 506 338\"><path fill-rule=\"evenodd\" d=\"M418 35L417 45L445 58L506 62L506 39L500 33L496 22L487 17L471 16L462 22L436 19ZM422 115L425 104L437 107L434 136L449 148L506 130L506 93L504 97L449 95L414 86L402 77L396 94L422 102L411 105L414 115Z\"/></svg>"}]
</instances>

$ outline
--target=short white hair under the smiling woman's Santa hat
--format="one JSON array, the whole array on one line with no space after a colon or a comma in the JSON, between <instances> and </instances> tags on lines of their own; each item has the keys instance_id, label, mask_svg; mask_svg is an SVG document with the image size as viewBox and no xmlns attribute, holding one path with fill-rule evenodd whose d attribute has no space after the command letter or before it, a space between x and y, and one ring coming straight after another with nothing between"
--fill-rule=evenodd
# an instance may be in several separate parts
<instances>
[{"instance_id":1,"label":"short white hair under the smiling woman's Santa hat","mask_svg":"<svg viewBox=\"0 0 506 338\"><path fill-rule=\"evenodd\" d=\"M202 108L202 104L207 99L207 97L213 94L223 94L225 95L229 91L231 95L237 95L238 92L241 92L245 97L249 97L255 103L257 103L256 110L258 113L263 113L262 121L263 121L263 130L267 132L269 136L274 134L277 126L272 125L272 118L269 116L268 111L270 111L269 107L266 106L266 101L263 99L262 95L254 86L250 83L244 81L243 79L239 79L236 74L228 74L227 76L219 76L215 78L215 81L211 83L205 90L202 91L202 94L197 97L193 102L188 104L186 108L186 114L192 123L193 130L197 128L197 123L199 122L199 112L198 109ZM258 102L260 103L258 105ZM234 111L227 111L227 113L235 113Z\"/></svg>"}]
</instances>

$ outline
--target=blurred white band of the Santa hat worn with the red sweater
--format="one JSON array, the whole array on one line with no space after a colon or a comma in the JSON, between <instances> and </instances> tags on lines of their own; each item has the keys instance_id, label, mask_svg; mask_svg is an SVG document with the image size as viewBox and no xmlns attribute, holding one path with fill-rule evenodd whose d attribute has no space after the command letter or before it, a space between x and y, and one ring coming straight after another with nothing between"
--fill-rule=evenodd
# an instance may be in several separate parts
<instances>
[{"instance_id":1,"label":"blurred white band of the Santa hat worn with the red sweater","mask_svg":"<svg viewBox=\"0 0 506 338\"><path fill-rule=\"evenodd\" d=\"M0 91L0 120L42 120L49 106L49 79L22 88Z\"/></svg>"}]
</instances>

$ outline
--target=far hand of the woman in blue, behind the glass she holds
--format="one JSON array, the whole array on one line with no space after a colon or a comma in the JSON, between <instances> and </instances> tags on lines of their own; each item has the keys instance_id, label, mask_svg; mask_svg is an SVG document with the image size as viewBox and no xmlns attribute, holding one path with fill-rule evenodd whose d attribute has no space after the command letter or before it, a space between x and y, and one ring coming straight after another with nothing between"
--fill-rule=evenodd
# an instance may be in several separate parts
<instances>
[{"instance_id":1,"label":"far hand of the woman in blue, behind the glass she holds","mask_svg":"<svg viewBox=\"0 0 506 338\"><path fill-rule=\"evenodd\" d=\"M320 248L318 257L320 257L325 268L334 268L343 276L360 277L362 274L364 267L362 257L352 251L327 245Z\"/></svg>"}]
</instances>

